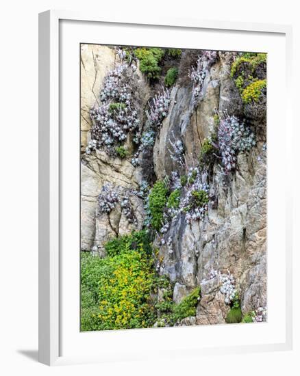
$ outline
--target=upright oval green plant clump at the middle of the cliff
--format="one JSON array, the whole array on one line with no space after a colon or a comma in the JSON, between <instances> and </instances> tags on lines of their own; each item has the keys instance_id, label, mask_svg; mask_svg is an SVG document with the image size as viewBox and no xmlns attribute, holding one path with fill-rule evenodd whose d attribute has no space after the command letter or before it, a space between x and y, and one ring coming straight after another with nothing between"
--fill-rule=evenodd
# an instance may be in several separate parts
<instances>
[{"instance_id":1,"label":"upright oval green plant clump at the middle of the cliff","mask_svg":"<svg viewBox=\"0 0 300 376\"><path fill-rule=\"evenodd\" d=\"M168 189L164 182L158 181L153 185L149 194L149 210L151 213L151 225L155 230L162 227L164 207L167 202Z\"/></svg>"}]
</instances>

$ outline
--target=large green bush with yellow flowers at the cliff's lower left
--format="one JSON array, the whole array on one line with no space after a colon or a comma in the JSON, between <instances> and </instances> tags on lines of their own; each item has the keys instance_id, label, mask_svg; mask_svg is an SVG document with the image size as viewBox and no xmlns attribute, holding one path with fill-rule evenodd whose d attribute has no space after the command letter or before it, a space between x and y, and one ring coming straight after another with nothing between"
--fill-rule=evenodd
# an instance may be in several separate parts
<instances>
[{"instance_id":1,"label":"large green bush with yellow flowers at the cliff's lower left","mask_svg":"<svg viewBox=\"0 0 300 376\"><path fill-rule=\"evenodd\" d=\"M114 256L82 254L82 331L153 325L155 311L150 299L153 262L143 243L132 247L128 239L134 236L126 241L119 239L119 249L114 243Z\"/></svg>"}]
</instances>

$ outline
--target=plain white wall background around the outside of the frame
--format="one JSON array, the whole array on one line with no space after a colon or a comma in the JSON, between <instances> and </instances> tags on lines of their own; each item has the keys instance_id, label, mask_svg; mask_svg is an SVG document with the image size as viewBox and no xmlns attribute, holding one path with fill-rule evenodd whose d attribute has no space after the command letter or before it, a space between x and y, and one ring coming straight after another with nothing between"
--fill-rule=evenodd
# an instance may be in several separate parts
<instances>
[{"instance_id":1,"label":"plain white wall background around the outside of the frame","mask_svg":"<svg viewBox=\"0 0 300 376\"><path fill-rule=\"evenodd\" d=\"M285 23L294 32L294 104L299 102L300 23L297 1L286 0L10 0L1 4L1 258L0 372L2 375L297 375L299 333L299 124L295 137L295 349L285 353L49 368L38 364L38 12L48 9L164 14L199 19ZM298 47L298 48L297 48ZM278 72L281 79L281 72ZM278 93L280 95L280 93ZM295 112L296 115L296 112ZM271 126L271 124L270 124ZM280 184L280 172L278 176ZM278 276L280 283L280 276ZM278 297L280 299L280 296Z\"/></svg>"}]
</instances>

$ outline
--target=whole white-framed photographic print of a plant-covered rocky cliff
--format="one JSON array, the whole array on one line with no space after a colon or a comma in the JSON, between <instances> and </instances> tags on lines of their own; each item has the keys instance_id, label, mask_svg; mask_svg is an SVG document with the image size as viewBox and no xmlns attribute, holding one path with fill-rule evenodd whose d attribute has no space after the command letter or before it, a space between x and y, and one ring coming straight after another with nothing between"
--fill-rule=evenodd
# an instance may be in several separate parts
<instances>
[{"instance_id":1,"label":"whole white-framed photographic print of a plant-covered rocky cliff","mask_svg":"<svg viewBox=\"0 0 300 376\"><path fill-rule=\"evenodd\" d=\"M290 28L49 11L39 46L40 362L290 348Z\"/></svg>"}]
</instances>

